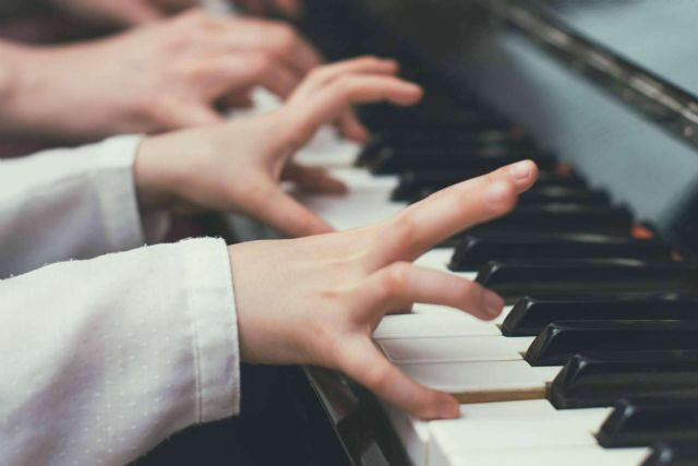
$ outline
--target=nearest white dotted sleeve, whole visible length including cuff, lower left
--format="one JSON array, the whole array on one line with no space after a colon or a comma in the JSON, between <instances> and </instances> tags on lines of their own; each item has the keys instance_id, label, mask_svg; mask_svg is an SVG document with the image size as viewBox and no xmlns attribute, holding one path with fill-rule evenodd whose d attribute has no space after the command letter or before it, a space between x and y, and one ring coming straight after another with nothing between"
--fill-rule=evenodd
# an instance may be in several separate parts
<instances>
[{"instance_id":1,"label":"nearest white dotted sleeve, whole visible length including cuff, lower left","mask_svg":"<svg viewBox=\"0 0 698 466\"><path fill-rule=\"evenodd\" d=\"M0 464L120 465L239 410L222 240L49 265L0 302Z\"/></svg>"}]
</instances>

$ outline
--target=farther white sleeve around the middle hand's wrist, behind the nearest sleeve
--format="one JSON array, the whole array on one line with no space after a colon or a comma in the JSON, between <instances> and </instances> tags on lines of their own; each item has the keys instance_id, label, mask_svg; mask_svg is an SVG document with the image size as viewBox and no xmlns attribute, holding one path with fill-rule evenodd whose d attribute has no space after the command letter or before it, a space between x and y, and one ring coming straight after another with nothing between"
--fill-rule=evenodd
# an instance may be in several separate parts
<instances>
[{"instance_id":1,"label":"farther white sleeve around the middle hand's wrist, behind the nearest sleeve","mask_svg":"<svg viewBox=\"0 0 698 466\"><path fill-rule=\"evenodd\" d=\"M139 213L136 135L0 162L0 278L159 239L166 217ZM145 226L145 231L144 231Z\"/></svg>"}]
</instances>

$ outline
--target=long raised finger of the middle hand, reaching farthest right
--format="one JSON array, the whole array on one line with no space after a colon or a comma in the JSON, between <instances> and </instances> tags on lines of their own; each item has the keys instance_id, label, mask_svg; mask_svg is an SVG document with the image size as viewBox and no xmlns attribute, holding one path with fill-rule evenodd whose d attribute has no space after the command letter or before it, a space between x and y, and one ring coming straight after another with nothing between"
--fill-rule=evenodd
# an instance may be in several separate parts
<instances>
[{"instance_id":1,"label":"long raised finger of the middle hand, reaching farthest right","mask_svg":"<svg viewBox=\"0 0 698 466\"><path fill-rule=\"evenodd\" d=\"M387 100L396 105L412 105L421 97L422 89L418 85L397 77L342 76L301 103L289 101L279 111L286 121L282 136L299 147L308 142L317 128L335 120L353 104Z\"/></svg>"}]
</instances>

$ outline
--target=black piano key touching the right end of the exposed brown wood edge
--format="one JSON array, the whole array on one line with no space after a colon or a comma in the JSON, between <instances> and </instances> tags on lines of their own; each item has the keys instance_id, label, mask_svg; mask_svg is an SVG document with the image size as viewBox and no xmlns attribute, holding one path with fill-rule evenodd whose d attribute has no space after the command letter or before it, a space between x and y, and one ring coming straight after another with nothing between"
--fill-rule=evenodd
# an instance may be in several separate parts
<instances>
[{"instance_id":1,"label":"black piano key touching the right end of the exposed brown wood edge","mask_svg":"<svg viewBox=\"0 0 698 466\"><path fill-rule=\"evenodd\" d=\"M547 399L557 409L590 408L666 392L698 396L698 351L575 355L549 386Z\"/></svg>"}]
</instances>

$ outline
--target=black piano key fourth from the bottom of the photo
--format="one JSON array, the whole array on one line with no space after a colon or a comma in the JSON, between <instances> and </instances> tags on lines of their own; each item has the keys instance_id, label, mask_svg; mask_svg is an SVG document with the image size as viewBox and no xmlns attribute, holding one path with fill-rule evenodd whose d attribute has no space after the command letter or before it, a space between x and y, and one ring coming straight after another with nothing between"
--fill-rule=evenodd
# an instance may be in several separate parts
<instances>
[{"instance_id":1,"label":"black piano key fourth from the bottom of the photo","mask_svg":"<svg viewBox=\"0 0 698 466\"><path fill-rule=\"evenodd\" d=\"M531 366L562 366L574 355L698 350L698 321L558 321L526 351Z\"/></svg>"}]
</instances>

